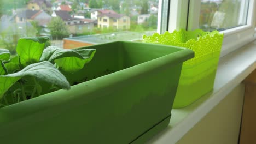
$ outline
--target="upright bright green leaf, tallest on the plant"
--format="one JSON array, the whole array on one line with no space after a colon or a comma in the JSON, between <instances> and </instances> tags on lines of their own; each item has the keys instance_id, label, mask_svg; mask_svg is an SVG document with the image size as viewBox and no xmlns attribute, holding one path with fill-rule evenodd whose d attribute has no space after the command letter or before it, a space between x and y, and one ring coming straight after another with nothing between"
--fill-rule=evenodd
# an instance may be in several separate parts
<instances>
[{"instance_id":1,"label":"upright bright green leaf, tallest on the plant","mask_svg":"<svg viewBox=\"0 0 256 144\"><path fill-rule=\"evenodd\" d=\"M48 37L31 37L21 38L17 44L17 53L20 57L20 63L26 67L29 64L39 62L39 59L44 50L45 42Z\"/></svg>"}]
</instances>

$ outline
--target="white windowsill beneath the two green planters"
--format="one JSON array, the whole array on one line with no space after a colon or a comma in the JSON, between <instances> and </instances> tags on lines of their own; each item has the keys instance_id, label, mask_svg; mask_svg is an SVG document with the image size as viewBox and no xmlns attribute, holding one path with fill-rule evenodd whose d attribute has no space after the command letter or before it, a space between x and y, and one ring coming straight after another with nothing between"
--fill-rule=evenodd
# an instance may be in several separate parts
<instances>
[{"instance_id":1,"label":"white windowsill beneath the two green planters","mask_svg":"<svg viewBox=\"0 0 256 144\"><path fill-rule=\"evenodd\" d=\"M168 127L148 143L176 143L255 68L256 40L220 58L213 91L187 107L172 109Z\"/></svg>"}]
</instances>

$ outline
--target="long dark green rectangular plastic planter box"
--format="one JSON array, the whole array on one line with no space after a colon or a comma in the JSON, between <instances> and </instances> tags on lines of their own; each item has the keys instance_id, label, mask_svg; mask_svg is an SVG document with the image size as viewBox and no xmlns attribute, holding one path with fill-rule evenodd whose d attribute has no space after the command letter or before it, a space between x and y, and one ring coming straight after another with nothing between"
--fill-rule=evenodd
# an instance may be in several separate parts
<instances>
[{"instance_id":1,"label":"long dark green rectangular plastic planter box","mask_svg":"<svg viewBox=\"0 0 256 144\"><path fill-rule=\"evenodd\" d=\"M144 143L168 125L193 51L124 41L88 48L95 57L69 81L89 81L0 109L1 143Z\"/></svg>"}]
</instances>

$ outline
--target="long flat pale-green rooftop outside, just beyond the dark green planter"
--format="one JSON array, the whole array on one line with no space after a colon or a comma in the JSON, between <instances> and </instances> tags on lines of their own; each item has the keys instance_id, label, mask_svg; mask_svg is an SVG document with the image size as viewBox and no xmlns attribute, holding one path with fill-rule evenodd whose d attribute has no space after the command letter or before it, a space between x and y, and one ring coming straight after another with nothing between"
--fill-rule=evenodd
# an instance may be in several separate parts
<instances>
[{"instance_id":1,"label":"long flat pale-green rooftop outside, just beyond the dark green planter","mask_svg":"<svg viewBox=\"0 0 256 144\"><path fill-rule=\"evenodd\" d=\"M109 43L112 41L132 41L142 39L142 35L152 35L155 31L147 32L130 32L130 31L121 31L113 33L104 33L104 34L95 34L95 35L85 35L80 37L65 38L67 40L79 41L89 44L102 44Z\"/></svg>"}]
</instances>

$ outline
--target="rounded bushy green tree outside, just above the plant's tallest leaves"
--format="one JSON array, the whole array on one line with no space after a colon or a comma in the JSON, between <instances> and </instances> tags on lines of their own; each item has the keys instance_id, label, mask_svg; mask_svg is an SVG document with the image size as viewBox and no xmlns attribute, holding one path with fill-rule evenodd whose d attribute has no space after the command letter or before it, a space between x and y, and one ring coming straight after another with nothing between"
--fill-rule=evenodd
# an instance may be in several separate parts
<instances>
[{"instance_id":1,"label":"rounded bushy green tree outside, just above the plant's tallest leaves","mask_svg":"<svg viewBox=\"0 0 256 144\"><path fill-rule=\"evenodd\" d=\"M60 17L53 17L48 23L48 28L51 31L51 35L56 36L56 39L69 35L68 28Z\"/></svg>"}]
</instances>

